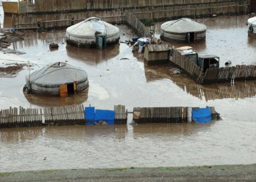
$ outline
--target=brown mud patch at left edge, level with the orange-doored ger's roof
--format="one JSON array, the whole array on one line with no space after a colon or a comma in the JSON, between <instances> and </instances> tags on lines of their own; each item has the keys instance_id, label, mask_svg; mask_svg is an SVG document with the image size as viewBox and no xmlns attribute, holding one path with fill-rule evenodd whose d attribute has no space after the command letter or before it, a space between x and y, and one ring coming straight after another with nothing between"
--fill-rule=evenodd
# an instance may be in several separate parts
<instances>
[{"instance_id":1,"label":"brown mud patch at left edge, level with the orange-doored ger's roof","mask_svg":"<svg viewBox=\"0 0 256 182\"><path fill-rule=\"evenodd\" d=\"M7 66L10 65L10 66ZM0 78L14 78L26 64L5 64L7 67L0 67Z\"/></svg>"}]
</instances>

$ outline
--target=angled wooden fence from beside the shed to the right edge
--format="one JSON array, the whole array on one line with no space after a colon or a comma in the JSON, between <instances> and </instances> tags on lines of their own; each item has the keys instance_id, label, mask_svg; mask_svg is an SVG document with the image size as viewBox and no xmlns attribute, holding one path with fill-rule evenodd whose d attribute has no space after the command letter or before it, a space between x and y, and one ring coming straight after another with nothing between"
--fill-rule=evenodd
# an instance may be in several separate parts
<instances>
[{"instance_id":1,"label":"angled wooden fence from beside the shed to the right edge","mask_svg":"<svg viewBox=\"0 0 256 182\"><path fill-rule=\"evenodd\" d=\"M170 64L181 69L189 78L199 84L225 83L244 80L256 80L255 65L237 65L203 70L185 55L174 49Z\"/></svg>"}]
</instances>

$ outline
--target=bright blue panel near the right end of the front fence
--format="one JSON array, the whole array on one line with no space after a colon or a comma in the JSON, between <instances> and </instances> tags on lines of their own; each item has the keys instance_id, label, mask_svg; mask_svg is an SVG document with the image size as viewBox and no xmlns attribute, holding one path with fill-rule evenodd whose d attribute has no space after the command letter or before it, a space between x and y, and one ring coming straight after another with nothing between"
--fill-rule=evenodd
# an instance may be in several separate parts
<instances>
[{"instance_id":1,"label":"bright blue panel near the right end of the front fence","mask_svg":"<svg viewBox=\"0 0 256 182\"><path fill-rule=\"evenodd\" d=\"M192 119L196 123L211 122L211 110L210 110L210 108L192 109Z\"/></svg>"}]
</instances>

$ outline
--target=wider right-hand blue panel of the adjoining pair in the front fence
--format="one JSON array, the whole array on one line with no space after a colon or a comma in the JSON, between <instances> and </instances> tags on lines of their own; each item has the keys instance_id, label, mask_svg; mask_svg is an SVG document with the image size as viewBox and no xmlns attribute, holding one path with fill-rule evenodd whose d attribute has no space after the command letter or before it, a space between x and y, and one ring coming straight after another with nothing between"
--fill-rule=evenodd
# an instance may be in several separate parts
<instances>
[{"instance_id":1,"label":"wider right-hand blue panel of the adjoining pair in the front fence","mask_svg":"<svg viewBox=\"0 0 256 182\"><path fill-rule=\"evenodd\" d=\"M111 110L95 110L95 122L98 123L99 120L105 121L107 124L115 123L115 111Z\"/></svg>"}]
</instances>

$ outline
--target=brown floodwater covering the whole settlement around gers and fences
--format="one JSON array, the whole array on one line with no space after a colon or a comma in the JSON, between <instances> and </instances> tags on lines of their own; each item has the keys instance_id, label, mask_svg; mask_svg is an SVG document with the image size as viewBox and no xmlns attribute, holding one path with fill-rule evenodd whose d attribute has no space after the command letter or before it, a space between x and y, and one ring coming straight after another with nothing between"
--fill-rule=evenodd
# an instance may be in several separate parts
<instances>
[{"instance_id":1,"label":"brown floodwater covering the whole settlement around gers and fences","mask_svg":"<svg viewBox=\"0 0 256 182\"><path fill-rule=\"evenodd\" d=\"M207 38L191 46L199 54L220 56L221 66L229 59L231 65L256 64L256 38L247 34L249 17L197 19L207 25ZM130 37L128 29L120 28ZM156 29L158 33L159 24ZM256 163L255 81L200 86L185 75L170 74L167 65L144 65L143 54L133 54L127 44L104 50L76 48L66 45L64 35L65 30L31 32L25 40L10 46L26 54L0 53L0 61L29 60L34 70L51 62L67 61L87 71L89 90L66 99L26 95L23 86L28 70L24 67L15 78L0 78L0 109L76 103L102 109L123 104L128 111L133 107L215 106L223 120L204 124L0 129L0 172ZM59 48L49 50L51 42L58 43ZM128 123L131 120L132 115L128 115Z\"/></svg>"}]
</instances>

